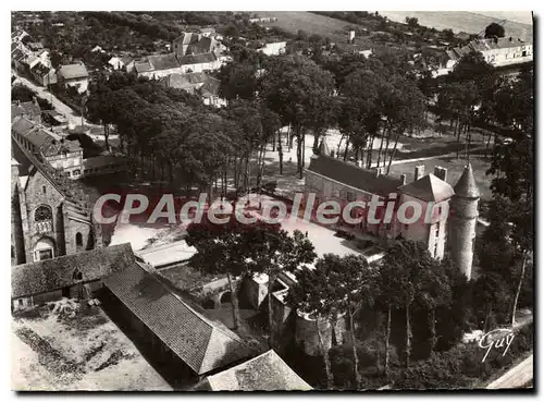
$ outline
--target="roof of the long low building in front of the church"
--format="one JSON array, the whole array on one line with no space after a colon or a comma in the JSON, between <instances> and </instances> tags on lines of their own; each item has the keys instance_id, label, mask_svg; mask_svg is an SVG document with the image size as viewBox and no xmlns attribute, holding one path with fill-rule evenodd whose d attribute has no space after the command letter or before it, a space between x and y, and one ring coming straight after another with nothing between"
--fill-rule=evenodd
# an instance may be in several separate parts
<instances>
[{"instance_id":1,"label":"roof of the long low building in front of the church","mask_svg":"<svg viewBox=\"0 0 544 402\"><path fill-rule=\"evenodd\" d=\"M11 297L24 297L71 287L76 282L73 277L76 268L82 272L83 281L90 282L135 264L131 244L125 243L17 265L11 269Z\"/></svg>"}]
</instances>

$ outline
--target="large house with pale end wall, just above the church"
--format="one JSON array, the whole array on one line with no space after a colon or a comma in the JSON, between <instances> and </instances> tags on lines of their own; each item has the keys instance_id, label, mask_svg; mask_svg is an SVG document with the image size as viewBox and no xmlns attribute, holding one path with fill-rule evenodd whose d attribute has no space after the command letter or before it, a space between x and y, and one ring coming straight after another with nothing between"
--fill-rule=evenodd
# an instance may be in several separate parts
<instances>
[{"instance_id":1,"label":"large house with pale end wall, just above the church","mask_svg":"<svg viewBox=\"0 0 544 402\"><path fill-rule=\"evenodd\" d=\"M33 155L39 155L52 168L70 179L83 175L83 149L77 141L67 141L25 117L17 117L11 126L12 136Z\"/></svg>"}]
</instances>

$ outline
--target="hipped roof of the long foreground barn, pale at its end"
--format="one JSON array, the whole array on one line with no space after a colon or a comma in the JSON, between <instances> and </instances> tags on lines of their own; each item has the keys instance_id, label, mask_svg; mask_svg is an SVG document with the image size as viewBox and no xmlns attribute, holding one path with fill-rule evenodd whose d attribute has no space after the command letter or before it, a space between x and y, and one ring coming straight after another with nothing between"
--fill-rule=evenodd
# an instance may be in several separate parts
<instances>
[{"instance_id":1,"label":"hipped roof of the long foreground barn, pale at its end","mask_svg":"<svg viewBox=\"0 0 544 402\"><path fill-rule=\"evenodd\" d=\"M254 354L234 332L214 325L138 265L103 283L197 375Z\"/></svg>"}]
</instances>

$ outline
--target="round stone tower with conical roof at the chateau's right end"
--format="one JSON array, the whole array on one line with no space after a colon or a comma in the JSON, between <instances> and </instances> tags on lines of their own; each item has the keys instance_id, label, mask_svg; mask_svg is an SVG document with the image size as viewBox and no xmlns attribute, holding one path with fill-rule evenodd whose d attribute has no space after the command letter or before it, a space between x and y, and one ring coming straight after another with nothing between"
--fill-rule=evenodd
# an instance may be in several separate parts
<instances>
[{"instance_id":1,"label":"round stone tower with conical roof at the chateau's right end","mask_svg":"<svg viewBox=\"0 0 544 402\"><path fill-rule=\"evenodd\" d=\"M452 259L467 279L470 279L478 223L478 202L480 200L480 192L470 163L465 167L454 191L448 245Z\"/></svg>"}]
</instances>

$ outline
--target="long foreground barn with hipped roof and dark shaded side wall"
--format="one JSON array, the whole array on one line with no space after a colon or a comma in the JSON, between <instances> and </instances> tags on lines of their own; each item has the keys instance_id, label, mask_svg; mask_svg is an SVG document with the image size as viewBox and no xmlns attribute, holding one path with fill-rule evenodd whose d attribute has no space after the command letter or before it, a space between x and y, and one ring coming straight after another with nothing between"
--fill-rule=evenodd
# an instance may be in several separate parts
<instances>
[{"instance_id":1,"label":"long foreground barn with hipped roof and dark shaded side wall","mask_svg":"<svg viewBox=\"0 0 544 402\"><path fill-rule=\"evenodd\" d=\"M252 357L256 351L222 324L207 317L159 279L133 264L103 279L103 307L133 333L150 358L175 375L180 388Z\"/></svg>"}]
</instances>

